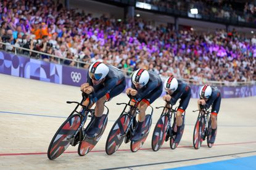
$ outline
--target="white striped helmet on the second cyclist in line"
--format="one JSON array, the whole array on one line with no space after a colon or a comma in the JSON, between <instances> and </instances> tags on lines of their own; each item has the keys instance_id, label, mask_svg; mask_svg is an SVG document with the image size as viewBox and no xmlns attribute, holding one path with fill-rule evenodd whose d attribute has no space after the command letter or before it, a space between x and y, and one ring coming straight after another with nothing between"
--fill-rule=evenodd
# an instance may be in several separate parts
<instances>
[{"instance_id":1,"label":"white striped helmet on the second cyclist in line","mask_svg":"<svg viewBox=\"0 0 256 170\"><path fill-rule=\"evenodd\" d=\"M149 72L146 69L138 69L131 75L131 79L133 84L138 83L139 87L144 87L149 82Z\"/></svg>"}]
</instances>

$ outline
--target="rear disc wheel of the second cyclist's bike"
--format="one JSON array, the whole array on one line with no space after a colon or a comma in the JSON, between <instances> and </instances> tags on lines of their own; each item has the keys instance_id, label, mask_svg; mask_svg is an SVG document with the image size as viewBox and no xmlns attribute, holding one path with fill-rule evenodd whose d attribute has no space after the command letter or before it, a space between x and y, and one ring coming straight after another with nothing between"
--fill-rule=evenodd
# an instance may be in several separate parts
<instances>
[{"instance_id":1,"label":"rear disc wheel of the second cyclist's bike","mask_svg":"<svg viewBox=\"0 0 256 170\"><path fill-rule=\"evenodd\" d=\"M152 124L151 115L146 115L145 121L142 125L142 134L144 135L139 141L131 141L131 145L130 145L131 152L137 152L139 149L141 149L142 145L147 139L147 136L149 135L151 124Z\"/></svg>"}]
</instances>

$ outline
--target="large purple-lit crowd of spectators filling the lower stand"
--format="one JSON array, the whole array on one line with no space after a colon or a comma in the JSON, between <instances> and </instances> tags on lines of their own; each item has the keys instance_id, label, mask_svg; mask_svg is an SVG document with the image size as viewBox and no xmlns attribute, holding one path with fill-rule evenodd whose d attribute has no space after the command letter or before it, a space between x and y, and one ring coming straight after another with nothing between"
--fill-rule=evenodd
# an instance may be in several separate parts
<instances>
[{"instance_id":1,"label":"large purple-lit crowd of spectators filling the lower stand","mask_svg":"<svg viewBox=\"0 0 256 170\"><path fill-rule=\"evenodd\" d=\"M95 18L50 0L2 1L0 17L2 42L86 63L102 60L128 71L128 75L145 68L162 77L175 75L199 83L256 80L256 37L249 39L235 29L229 33L176 32L141 18ZM20 53L57 62L48 55ZM75 66L74 61L62 62ZM88 64L81 66L88 68Z\"/></svg>"}]
</instances>

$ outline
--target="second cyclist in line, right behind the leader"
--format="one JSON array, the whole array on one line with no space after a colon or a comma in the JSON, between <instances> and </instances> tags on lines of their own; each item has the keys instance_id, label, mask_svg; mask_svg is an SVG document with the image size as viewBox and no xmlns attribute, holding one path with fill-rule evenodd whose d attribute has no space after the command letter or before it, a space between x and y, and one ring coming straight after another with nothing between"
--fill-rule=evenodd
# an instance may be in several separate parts
<instances>
[{"instance_id":1,"label":"second cyclist in line, right behind the leader","mask_svg":"<svg viewBox=\"0 0 256 170\"><path fill-rule=\"evenodd\" d=\"M131 88L126 90L128 95L134 96L138 101L138 126L131 141L139 141L143 136L142 125L146 117L147 107L159 98L163 91L162 80L159 75L146 69L138 69L131 75Z\"/></svg>"}]
</instances>

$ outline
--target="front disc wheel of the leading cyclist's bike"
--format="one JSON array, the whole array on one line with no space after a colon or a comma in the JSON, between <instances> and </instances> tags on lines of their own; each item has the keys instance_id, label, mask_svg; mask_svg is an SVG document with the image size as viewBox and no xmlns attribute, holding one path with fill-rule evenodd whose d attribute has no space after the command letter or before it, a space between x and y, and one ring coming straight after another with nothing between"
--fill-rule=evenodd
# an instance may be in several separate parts
<instances>
[{"instance_id":1,"label":"front disc wheel of the leading cyclist's bike","mask_svg":"<svg viewBox=\"0 0 256 170\"><path fill-rule=\"evenodd\" d=\"M72 142L72 137L76 130L79 128L81 122L80 115L73 114L65 120L64 123L57 130L52 141L49 145L47 156L50 160L54 160L59 157L70 145Z\"/></svg>"}]
</instances>

